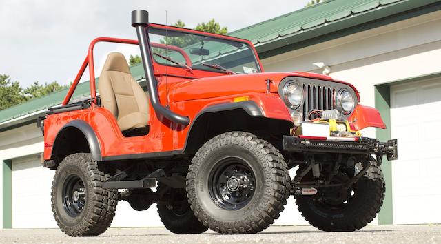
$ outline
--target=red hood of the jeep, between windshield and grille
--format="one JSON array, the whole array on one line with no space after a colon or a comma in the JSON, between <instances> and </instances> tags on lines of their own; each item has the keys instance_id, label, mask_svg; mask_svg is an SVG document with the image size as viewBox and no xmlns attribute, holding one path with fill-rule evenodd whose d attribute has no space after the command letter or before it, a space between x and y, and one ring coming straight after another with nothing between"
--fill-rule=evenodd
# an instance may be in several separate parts
<instances>
[{"instance_id":1,"label":"red hood of the jeep, between windshield and grille","mask_svg":"<svg viewBox=\"0 0 441 244\"><path fill-rule=\"evenodd\" d=\"M309 72L263 72L258 74L232 74L218 77L205 77L184 81L174 85L170 91L170 101L188 101L209 99L219 96L231 96L249 92L267 92L267 80L270 79L269 92L277 92L278 85L285 77L306 77L334 81L323 74ZM341 81L336 81L341 82ZM354 88L355 89L355 88Z\"/></svg>"}]
</instances>

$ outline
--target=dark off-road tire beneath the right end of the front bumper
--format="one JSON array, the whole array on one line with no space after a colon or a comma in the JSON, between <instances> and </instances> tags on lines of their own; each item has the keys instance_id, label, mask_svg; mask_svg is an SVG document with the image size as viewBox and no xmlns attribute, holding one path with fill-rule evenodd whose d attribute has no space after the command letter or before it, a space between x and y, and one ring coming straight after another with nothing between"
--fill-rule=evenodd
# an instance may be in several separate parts
<instances>
[{"instance_id":1,"label":"dark off-road tire beneath the right end of the front bumper","mask_svg":"<svg viewBox=\"0 0 441 244\"><path fill-rule=\"evenodd\" d=\"M359 230L375 218L383 204L386 188L380 166L371 162L371 167L353 187L355 194L345 207L329 210L315 196L296 196L298 211L308 223L325 232Z\"/></svg>"}]
</instances>

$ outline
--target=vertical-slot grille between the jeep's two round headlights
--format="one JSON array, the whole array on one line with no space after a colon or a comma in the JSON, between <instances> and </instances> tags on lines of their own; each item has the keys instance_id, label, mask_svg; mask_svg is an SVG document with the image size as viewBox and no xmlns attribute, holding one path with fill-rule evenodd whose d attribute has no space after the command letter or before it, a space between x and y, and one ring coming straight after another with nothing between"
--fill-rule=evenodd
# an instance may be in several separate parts
<instances>
[{"instance_id":1,"label":"vertical-slot grille between the jeep's two round headlights","mask_svg":"<svg viewBox=\"0 0 441 244\"><path fill-rule=\"evenodd\" d=\"M336 88L325 85L303 84L303 90L305 91L304 119L318 118L318 114L313 114L308 118L308 114L312 110L333 110L335 108L333 98L336 94Z\"/></svg>"}]
</instances>

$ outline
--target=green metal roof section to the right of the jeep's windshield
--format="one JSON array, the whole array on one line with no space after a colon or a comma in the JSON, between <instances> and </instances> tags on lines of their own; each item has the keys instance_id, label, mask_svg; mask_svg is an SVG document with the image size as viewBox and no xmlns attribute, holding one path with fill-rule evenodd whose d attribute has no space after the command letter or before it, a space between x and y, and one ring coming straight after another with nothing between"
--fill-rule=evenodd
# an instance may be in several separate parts
<instances>
[{"instance_id":1,"label":"green metal roof section to the right of the jeep's windshield","mask_svg":"<svg viewBox=\"0 0 441 244\"><path fill-rule=\"evenodd\" d=\"M416 10L440 0L328 0L274 19L230 32L233 37L252 41L260 58L294 50L298 43L313 45L313 39L366 25L369 22ZM358 30L360 31L360 30ZM317 38L318 37L318 38ZM316 40L314 40L316 41ZM280 49L284 47L283 49ZM271 50L280 49L280 52Z\"/></svg>"}]
</instances>

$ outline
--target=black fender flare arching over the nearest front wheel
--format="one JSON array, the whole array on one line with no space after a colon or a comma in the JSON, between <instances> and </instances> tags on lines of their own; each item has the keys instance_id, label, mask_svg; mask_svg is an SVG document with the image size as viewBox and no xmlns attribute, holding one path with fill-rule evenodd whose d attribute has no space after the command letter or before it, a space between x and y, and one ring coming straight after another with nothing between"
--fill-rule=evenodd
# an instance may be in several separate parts
<instances>
[{"instance_id":1,"label":"black fender flare arching over the nearest front wheel","mask_svg":"<svg viewBox=\"0 0 441 244\"><path fill-rule=\"evenodd\" d=\"M189 142L189 136L192 134L192 130L194 129L194 125L197 123L198 119L201 118L201 116L211 113L211 112L222 112L222 111L228 111L228 110L237 110L241 109L247 112L249 116L264 116L262 110L260 107L255 103L254 101L241 101L237 103L221 103L216 105L211 105L208 108L205 108L201 110L192 121L192 124L190 125L190 128L187 133L187 138L185 139L185 145L183 148L183 152L187 152L187 145Z\"/></svg>"}]
</instances>

